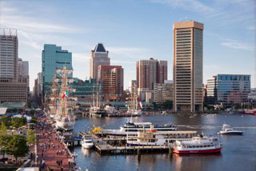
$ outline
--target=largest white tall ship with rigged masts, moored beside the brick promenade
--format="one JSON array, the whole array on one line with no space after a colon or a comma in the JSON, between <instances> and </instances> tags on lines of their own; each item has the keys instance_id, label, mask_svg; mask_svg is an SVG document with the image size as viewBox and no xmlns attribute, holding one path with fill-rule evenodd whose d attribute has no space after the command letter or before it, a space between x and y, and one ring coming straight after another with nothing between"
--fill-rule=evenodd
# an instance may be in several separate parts
<instances>
[{"instance_id":1,"label":"largest white tall ship with rigged masts, moored beside the brick promenade","mask_svg":"<svg viewBox=\"0 0 256 171\"><path fill-rule=\"evenodd\" d=\"M63 69L56 70L58 77L54 78L54 82L59 87L59 94L57 97L58 105L55 114L56 128L65 131L73 130L75 123L74 108L76 105L77 97L70 97L69 94L73 93L75 89L70 88L70 83L74 82L74 79L68 78L72 74L72 69L66 69L66 65Z\"/></svg>"}]
</instances>

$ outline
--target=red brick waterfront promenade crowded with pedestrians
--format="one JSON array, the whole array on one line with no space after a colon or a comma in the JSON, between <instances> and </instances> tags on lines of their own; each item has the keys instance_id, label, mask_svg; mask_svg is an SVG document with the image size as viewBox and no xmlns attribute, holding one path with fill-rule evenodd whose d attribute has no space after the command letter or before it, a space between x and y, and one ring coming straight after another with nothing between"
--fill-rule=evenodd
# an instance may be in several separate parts
<instances>
[{"instance_id":1,"label":"red brick waterfront promenade crowded with pedestrians","mask_svg":"<svg viewBox=\"0 0 256 171\"><path fill-rule=\"evenodd\" d=\"M41 170L73 170L70 154L47 117L38 117L38 165Z\"/></svg>"}]
</instances>

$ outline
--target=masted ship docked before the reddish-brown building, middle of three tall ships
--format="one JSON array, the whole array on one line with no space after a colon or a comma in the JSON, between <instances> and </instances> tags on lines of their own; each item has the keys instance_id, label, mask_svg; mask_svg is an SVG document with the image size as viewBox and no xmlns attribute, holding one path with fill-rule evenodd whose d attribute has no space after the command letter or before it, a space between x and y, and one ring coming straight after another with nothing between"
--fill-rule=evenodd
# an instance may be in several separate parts
<instances>
[{"instance_id":1,"label":"masted ship docked before the reddish-brown building, middle of three tall ships","mask_svg":"<svg viewBox=\"0 0 256 171\"><path fill-rule=\"evenodd\" d=\"M94 101L93 105L90 105L90 116L92 117L103 117L106 114L105 109L101 105L101 94L99 93L99 85L94 85ZM96 93L96 94L95 94Z\"/></svg>"}]
</instances>

